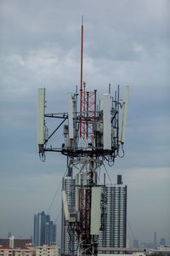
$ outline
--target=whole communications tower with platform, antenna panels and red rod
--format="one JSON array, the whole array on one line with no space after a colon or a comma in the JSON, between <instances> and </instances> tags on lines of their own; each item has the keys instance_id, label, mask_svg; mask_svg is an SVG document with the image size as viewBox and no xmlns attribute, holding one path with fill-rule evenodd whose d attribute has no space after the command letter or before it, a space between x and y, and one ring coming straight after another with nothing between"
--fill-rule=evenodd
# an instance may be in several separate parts
<instances>
[{"instance_id":1,"label":"whole communications tower with platform, antenna panels and red rod","mask_svg":"<svg viewBox=\"0 0 170 256\"><path fill-rule=\"evenodd\" d=\"M111 95L111 84L109 92L98 100L97 90L88 91L86 83L82 83L82 49L83 21L80 93L78 90L68 93L67 113L45 113L45 89L38 90L37 143L41 160L45 160L46 152L60 152L67 157L67 166L77 171L76 206L68 207L65 190L62 190L65 220L69 230L77 234L77 255L96 256L99 230L105 228L105 195L97 183L98 171L105 162L110 166L114 164L120 148L124 152L129 87L126 86L124 102L119 85L114 96ZM61 120L50 135L48 118ZM61 125L65 142L58 148L48 147L49 139Z\"/></svg>"}]
</instances>

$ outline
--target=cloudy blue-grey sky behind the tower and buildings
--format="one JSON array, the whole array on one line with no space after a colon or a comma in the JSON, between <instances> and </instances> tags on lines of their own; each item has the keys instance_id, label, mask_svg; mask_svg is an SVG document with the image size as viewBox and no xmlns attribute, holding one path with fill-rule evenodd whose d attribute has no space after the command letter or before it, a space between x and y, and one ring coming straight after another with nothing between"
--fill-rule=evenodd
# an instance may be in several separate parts
<instances>
[{"instance_id":1,"label":"cloudy blue-grey sky behind the tower and buildings","mask_svg":"<svg viewBox=\"0 0 170 256\"><path fill-rule=\"evenodd\" d=\"M37 89L47 89L48 113L67 111L67 91L80 87L83 14L88 89L101 95L120 84L123 95L130 86L126 155L108 167L128 186L127 237L153 241L156 231L170 243L169 10L166 0L0 0L0 238L30 237L41 211L59 234L66 163L38 158Z\"/></svg>"}]
</instances>

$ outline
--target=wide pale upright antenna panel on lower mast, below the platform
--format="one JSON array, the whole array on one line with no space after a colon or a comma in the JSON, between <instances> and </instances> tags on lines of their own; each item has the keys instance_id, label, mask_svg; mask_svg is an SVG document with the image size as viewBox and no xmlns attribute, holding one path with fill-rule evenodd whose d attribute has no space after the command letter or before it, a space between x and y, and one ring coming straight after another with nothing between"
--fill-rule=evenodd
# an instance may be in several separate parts
<instances>
[{"instance_id":1,"label":"wide pale upright antenna panel on lower mast, below the platform","mask_svg":"<svg viewBox=\"0 0 170 256\"><path fill-rule=\"evenodd\" d=\"M101 219L101 188L92 188L90 235L99 235Z\"/></svg>"}]
</instances>

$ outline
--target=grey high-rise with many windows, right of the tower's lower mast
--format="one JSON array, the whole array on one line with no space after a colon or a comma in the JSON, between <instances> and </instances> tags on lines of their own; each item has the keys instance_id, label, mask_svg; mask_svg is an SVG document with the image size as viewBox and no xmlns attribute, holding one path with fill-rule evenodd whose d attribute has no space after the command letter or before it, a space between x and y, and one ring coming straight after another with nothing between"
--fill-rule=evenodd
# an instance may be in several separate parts
<instances>
[{"instance_id":1,"label":"grey high-rise with many windows, right of the tower's lower mast","mask_svg":"<svg viewBox=\"0 0 170 256\"><path fill-rule=\"evenodd\" d=\"M107 214L104 230L99 234L99 247L126 247L127 185L123 185L122 176L118 175L117 183L108 184L104 189Z\"/></svg>"}]
</instances>

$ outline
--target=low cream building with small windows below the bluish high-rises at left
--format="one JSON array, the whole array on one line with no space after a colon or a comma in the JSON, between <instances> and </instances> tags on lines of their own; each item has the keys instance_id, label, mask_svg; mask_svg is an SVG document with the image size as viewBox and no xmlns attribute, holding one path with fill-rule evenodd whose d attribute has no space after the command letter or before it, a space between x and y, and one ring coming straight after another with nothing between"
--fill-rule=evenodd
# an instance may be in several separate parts
<instances>
[{"instance_id":1,"label":"low cream building with small windows below the bluish high-rises at left","mask_svg":"<svg viewBox=\"0 0 170 256\"><path fill-rule=\"evenodd\" d=\"M56 245L35 247L35 256L59 256L59 247Z\"/></svg>"}]
</instances>

